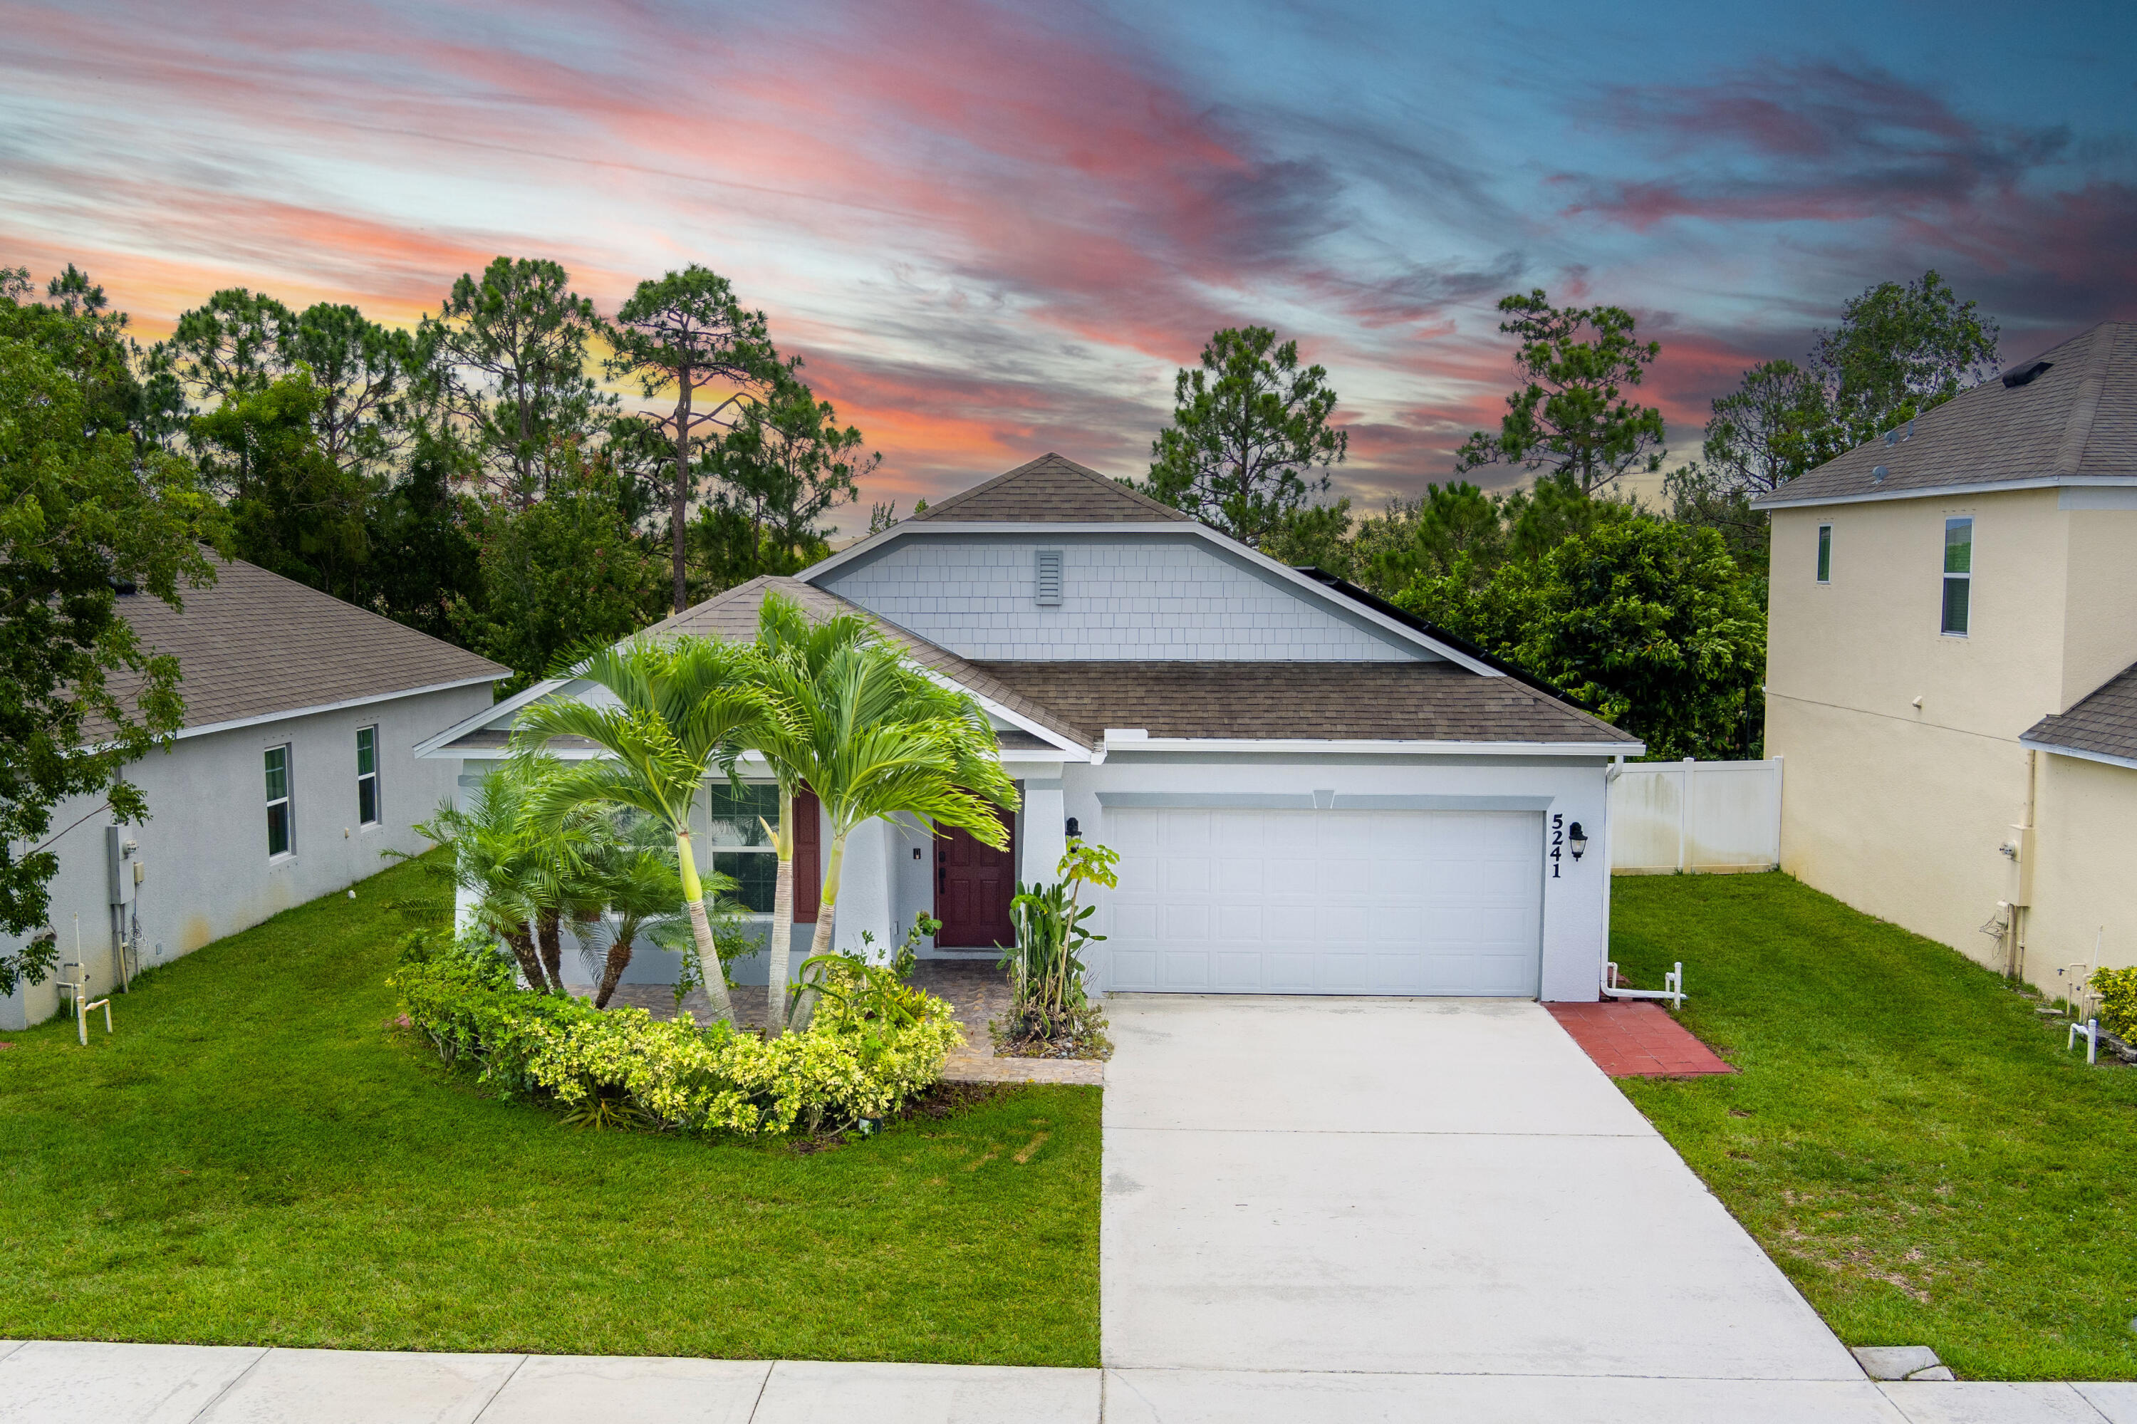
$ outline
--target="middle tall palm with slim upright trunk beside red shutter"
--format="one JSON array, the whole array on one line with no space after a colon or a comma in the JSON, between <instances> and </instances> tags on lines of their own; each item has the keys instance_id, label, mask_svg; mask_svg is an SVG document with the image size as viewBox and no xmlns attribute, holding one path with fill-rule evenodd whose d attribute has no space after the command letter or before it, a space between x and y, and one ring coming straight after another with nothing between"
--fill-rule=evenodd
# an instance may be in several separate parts
<instances>
[{"instance_id":1,"label":"middle tall palm with slim upright trunk beside red shutter","mask_svg":"<svg viewBox=\"0 0 2137 1424\"><path fill-rule=\"evenodd\" d=\"M816 680L844 648L857 648L876 637L870 622L857 614L840 614L810 622L793 599L767 594L756 609L756 650L763 656L759 674L776 708L795 708L814 697ZM795 793L801 791L799 770L806 753L797 746L801 718L767 718L752 738L752 750L765 757L780 787L780 823L765 827L778 874L771 887L771 975L765 988L767 1020L774 1033L786 1031L786 984L793 977L795 930Z\"/></svg>"}]
</instances>

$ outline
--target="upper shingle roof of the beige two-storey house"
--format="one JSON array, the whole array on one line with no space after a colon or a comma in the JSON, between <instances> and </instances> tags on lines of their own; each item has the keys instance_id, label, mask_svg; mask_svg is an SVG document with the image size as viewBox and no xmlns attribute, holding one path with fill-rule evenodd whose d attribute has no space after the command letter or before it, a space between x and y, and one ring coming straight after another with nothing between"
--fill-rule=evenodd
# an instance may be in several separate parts
<instances>
[{"instance_id":1,"label":"upper shingle roof of the beige two-storey house","mask_svg":"<svg viewBox=\"0 0 2137 1424\"><path fill-rule=\"evenodd\" d=\"M2024 385L1983 381L1921 415L1898 445L1870 440L1752 502L1893 498L1910 490L2019 479L2137 477L2137 323L2103 321L2043 351L2039 361L2047 368ZM2024 366L2015 366L2013 374ZM1878 468L1885 479L1876 479Z\"/></svg>"}]
</instances>

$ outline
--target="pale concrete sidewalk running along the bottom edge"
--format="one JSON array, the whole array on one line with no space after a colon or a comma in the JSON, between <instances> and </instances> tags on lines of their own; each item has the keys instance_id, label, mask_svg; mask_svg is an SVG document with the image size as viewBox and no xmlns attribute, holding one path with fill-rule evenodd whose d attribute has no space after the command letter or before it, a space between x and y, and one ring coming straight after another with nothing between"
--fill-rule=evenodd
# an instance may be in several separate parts
<instances>
[{"instance_id":1,"label":"pale concrete sidewalk running along the bottom edge","mask_svg":"<svg viewBox=\"0 0 2137 1424\"><path fill-rule=\"evenodd\" d=\"M1036 1371L0 1341L4 1424L2137 1424L2137 1383Z\"/></svg>"}]
</instances>

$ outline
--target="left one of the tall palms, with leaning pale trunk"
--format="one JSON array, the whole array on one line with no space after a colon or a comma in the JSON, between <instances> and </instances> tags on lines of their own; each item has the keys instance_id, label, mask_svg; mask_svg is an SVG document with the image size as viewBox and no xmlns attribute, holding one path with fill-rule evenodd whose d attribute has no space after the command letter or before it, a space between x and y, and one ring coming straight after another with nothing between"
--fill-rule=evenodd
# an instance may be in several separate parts
<instances>
[{"instance_id":1,"label":"left one of the tall palms, with leaning pale trunk","mask_svg":"<svg viewBox=\"0 0 2137 1424\"><path fill-rule=\"evenodd\" d=\"M703 637L660 641L633 637L615 648L594 648L560 665L558 676L605 688L615 706L579 699L541 701L513 727L521 755L539 753L549 738L586 738L605 757L566 763L530 804L534 819L558 825L581 806L628 806L675 838L675 868L684 909L697 943L705 996L718 1020L733 1020L727 975L705 915L705 883L690 853L690 806L712 765L733 776L748 733L765 721L756 678L756 650Z\"/></svg>"}]
</instances>

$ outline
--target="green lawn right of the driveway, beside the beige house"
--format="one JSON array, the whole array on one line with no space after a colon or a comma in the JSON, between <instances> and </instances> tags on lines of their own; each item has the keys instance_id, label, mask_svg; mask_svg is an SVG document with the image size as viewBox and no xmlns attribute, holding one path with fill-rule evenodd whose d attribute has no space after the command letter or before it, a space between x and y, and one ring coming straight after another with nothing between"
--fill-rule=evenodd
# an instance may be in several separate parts
<instances>
[{"instance_id":1,"label":"green lawn right of the driveway, beside the beige house","mask_svg":"<svg viewBox=\"0 0 2137 1424\"><path fill-rule=\"evenodd\" d=\"M1616 881L1639 984L1742 1073L1624 1080L1849 1345L1970 1379L2137 1377L2137 1071L2032 1001L1782 874Z\"/></svg>"}]
</instances>

